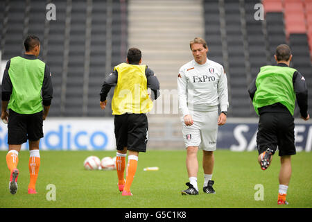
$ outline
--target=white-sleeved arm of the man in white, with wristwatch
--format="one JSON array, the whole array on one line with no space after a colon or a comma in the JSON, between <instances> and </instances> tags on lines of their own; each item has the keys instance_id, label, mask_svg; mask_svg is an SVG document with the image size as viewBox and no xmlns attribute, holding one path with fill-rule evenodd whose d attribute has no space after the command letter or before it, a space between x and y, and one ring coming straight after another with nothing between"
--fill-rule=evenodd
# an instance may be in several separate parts
<instances>
[{"instance_id":1,"label":"white-sleeved arm of the man in white, with wristwatch","mask_svg":"<svg viewBox=\"0 0 312 222\"><path fill-rule=\"evenodd\" d=\"M227 121L227 108L229 107L228 92L227 92L227 75L222 67L221 75L218 82L218 96L221 113L218 117L218 125L222 126Z\"/></svg>"}]
</instances>

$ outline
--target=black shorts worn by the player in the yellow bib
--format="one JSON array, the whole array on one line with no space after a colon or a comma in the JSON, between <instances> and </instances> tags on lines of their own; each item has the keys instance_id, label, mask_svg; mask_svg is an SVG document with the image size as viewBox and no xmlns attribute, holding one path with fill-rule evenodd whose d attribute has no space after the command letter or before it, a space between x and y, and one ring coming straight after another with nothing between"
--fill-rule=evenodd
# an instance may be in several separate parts
<instances>
[{"instance_id":1,"label":"black shorts worn by the player in the yellow bib","mask_svg":"<svg viewBox=\"0 0 312 222\"><path fill-rule=\"evenodd\" d=\"M114 117L117 150L146 152L148 119L146 114L121 114Z\"/></svg>"}]
</instances>

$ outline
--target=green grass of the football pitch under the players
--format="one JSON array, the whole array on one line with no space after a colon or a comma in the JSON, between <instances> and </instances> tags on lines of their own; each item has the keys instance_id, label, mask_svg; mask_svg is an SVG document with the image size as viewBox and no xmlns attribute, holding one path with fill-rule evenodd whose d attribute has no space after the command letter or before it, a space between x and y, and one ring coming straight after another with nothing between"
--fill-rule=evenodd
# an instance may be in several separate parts
<instances>
[{"instance_id":1,"label":"green grass of the football pitch under the players","mask_svg":"<svg viewBox=\"0 0 312 222\"><path fill-rule=\"evenodd\" d=\"M133 196L121 196L114 171L86 171L83 162L89 155L100 159L114 157L116 151L40 151L41 167L36 189L27 194L29 152L19 153L17 194L8 191L10 173L6 151L0 152L0 208L5 207L103 207L103 208L254 208L312 207L312 153L301 152L292 157L293 174L288 188L289 205L277 205L279 157L262 171L257 152L215 152L213 180L216 194L204 194L202 151L198 152L198 196L182 196L187 189L185 151L148 151L139 154ZM144 171L159 167L158 171ZM48 185L55 186L55 192ZM263 186L263 189L259 187ZM255 200L263 191L263 200ZM257 193L257 194L256 194ZM55 200L51 200L55 194ZM50 200L49 200L50 199Z\"/></svg>"}]
</instances>

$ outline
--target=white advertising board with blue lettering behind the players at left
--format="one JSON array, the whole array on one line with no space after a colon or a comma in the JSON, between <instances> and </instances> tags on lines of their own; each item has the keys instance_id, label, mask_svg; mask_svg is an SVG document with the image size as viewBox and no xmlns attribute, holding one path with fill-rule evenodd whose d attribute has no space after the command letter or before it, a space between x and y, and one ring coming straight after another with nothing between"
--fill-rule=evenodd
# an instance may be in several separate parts
<instances>
[{"instance_id":1,"label":"white advertising board with blue lettering behind the players at left","mask_svg":"<svg viewBox=\"0 0 312 222\"><path fill-rule=\"evenodd\" d=\"M0 150L8 150L8 125L0 124ZM96 151L116 149L112 118L52 118L44 121L41 150ZM28 150L28 144L22 144Z\"/></svg>"}]
</instances>

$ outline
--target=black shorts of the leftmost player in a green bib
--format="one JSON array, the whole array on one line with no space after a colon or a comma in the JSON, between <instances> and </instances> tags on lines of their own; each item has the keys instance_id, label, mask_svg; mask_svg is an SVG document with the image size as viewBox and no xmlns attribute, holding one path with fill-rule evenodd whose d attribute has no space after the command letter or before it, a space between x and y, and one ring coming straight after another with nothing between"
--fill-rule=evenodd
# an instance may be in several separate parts
<instances>
[{"instance_id":1,"label":"black shorts of the leftmost player in a green bib","mask_svg":"<svg viewBox=\"0 0 312 222\"><path fill-rule=\"evenodd\" d=\"M19 145L37 141L44 136L42 111L34 114L19 114L9 110L8 118L8 144Z\"/></svg>"}]
</instances>

